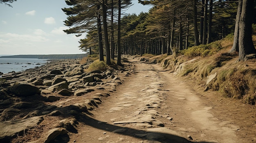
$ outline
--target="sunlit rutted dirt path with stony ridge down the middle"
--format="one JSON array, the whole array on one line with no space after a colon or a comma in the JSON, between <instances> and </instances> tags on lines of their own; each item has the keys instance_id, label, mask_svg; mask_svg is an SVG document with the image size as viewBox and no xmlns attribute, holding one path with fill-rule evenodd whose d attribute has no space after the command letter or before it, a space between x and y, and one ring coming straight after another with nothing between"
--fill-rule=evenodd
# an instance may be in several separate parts
<instances>
[{"instance_id":1,"label":"sunlit rutted dirt path with stony ridge down the middle","mask_svg":"<svg viewBox=\"0 0 256 143\"><path fill-rule=\"evenodd\" d=\"M238 125L216 116L215 103L178 77L156 64L134 64L136 74L118 86L84 123L79 123L70 143L245 141L236 136L241 130Z\"/></svg>"}]
</instances>

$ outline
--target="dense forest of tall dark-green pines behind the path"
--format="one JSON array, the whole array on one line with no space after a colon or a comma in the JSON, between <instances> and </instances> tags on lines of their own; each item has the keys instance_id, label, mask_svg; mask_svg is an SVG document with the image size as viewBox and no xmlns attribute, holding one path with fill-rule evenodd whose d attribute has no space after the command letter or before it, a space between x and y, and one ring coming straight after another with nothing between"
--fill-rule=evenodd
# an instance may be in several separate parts
<instances>
[{"instance_id":1,"label":"dense forest of tall dark-green pines behind the path","mask_svg":"<svg viewBox=\"0 0 256 143\"><path fill-rule=\"evenodd\" d=\"M106 55L108 65L116 54L120 65L121 54L169 55L232 33L240 40L230 52L239 52L240 60L256 53L251 36L252 23L256 23L255 0L138 0L153 6L139 15L123 13L131 0L65 2L70 6L63 8L68 15L65 25L70 26L65 32L86 33L79 41L80 49L99 54L101 61Z\"/></svg>"}]
</instances>

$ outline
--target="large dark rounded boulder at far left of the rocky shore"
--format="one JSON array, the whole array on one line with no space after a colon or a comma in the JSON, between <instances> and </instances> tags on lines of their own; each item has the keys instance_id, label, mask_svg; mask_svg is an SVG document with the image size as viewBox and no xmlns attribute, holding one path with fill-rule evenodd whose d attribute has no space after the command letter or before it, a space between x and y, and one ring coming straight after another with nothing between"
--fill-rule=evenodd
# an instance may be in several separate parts
<instances>
[{"instance_id":1,"label":"large dark rounded boulder at far left of the rocky shore","mask_svg":"<svg viewBox=\"0 0 256 143\"><path fill-rule=\"evenodd\" d=\"M32 96L35 94L40 95L40 90L38 87L36 86L32 86L30 84L18 84L15 86L12 86L10 88L11 93L13 93L14 95L20 97L20 96Z\"/></svg>"}]
</instances>

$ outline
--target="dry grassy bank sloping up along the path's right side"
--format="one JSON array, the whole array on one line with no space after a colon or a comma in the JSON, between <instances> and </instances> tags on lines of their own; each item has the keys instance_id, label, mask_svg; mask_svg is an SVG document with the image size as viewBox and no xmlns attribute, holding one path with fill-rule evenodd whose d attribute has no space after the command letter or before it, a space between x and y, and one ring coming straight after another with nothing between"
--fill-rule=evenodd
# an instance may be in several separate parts
<instances>
[{"instance_id":1,"label":"dry grassy bank sloping up along the path's right side","mask_svg":"<svg viewBox=\"0 0 256 143\"><path fill-rule=\"evenodd\" d=\"M238 53L230 54L232 41L220 40L205 47L180 51L183 55L145 55L177 76L193 79L202 91L220 91L224 97L256 102L256 59L237 62Z\"/></svg>"}]
</instances>

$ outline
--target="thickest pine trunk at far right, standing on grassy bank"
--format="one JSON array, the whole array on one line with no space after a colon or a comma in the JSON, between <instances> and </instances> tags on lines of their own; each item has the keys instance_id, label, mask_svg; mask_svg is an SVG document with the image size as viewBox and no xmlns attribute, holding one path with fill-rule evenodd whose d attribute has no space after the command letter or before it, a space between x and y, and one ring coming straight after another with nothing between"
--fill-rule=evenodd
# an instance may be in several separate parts
<instances>
[{"instance_id":1,"label":"thickest pine trunk at far right, standing on grassy bank","mask_svg":"<svg viewBox=\"0 0 256 143\"><path fill-rule=\"evenodd\" d=\"M239 0L242 1L242 0ZM254 0L243 0L242 11L239 21L239 58L244 60L245 55L256 53L252 42L252 17Z\"/></svg>"}]
</instances>

